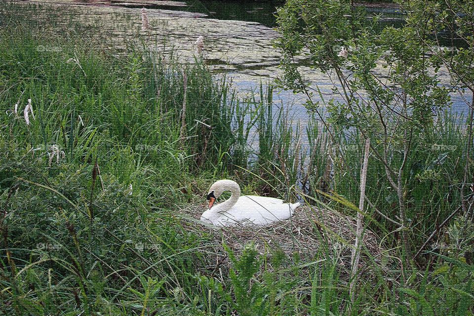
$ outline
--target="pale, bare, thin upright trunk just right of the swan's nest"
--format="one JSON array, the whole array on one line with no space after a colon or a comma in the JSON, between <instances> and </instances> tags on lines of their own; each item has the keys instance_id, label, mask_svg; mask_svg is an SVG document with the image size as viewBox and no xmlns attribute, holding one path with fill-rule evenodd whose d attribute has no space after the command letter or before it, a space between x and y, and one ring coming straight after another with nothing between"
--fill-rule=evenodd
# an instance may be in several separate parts
<instances>
[{"instance_id":1,"label":"pale, bare, thin upright trunk just right of the swan's nest","mask_svg":"<svg viewBox=\"0 0 474 316\"><path fill-rule=\"evenodd\" d=\"M359 198L359 212L357 213L356 243L355 243L354 249L352 251L352 256L351 256L352 271L351 271L351 284L349 287L349 291L351 295L351 302L353 303L356 297L354 286L356 285L356 279L357 279L356 276L357 276L357 268L358 268L359 259L360 259L360 250L363 244L362 230L364 226L365 183L367 180L367 166L369 162L369 154L370 154L370 140L367 138L365 140L364 161L363 161L362 169L360 171L360 198Z\"/></svg>"}]
</instances>

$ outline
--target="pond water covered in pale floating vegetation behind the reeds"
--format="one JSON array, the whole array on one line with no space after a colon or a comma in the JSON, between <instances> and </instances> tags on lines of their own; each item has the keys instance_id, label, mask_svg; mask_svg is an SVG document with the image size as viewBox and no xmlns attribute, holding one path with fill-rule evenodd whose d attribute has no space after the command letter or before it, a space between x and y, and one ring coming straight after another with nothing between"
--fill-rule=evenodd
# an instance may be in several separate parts
<instances>
[{"instance_id":1,"label":"pond water covered in pale floating vegetation behind the reeds","mask_svg":"<svg viewBox=\"0 0 474 316\"><path fill-rule=\"evenodd\" d=\"M281 54L272 45L272 40L278 36L273 29L276 24L274 12L281 1L184 0L185 3L164 2L166 5L150 5L152 1L148 1L150 26L146 31L142 30L143 5L137 4L137 0L130 0L126 4L108 0L73 2L16 1L18 14L34 15L38 23L42 23L45 29L49 28L50 32L69 32L72 26L86 31L91 25L96 25L99 26L99 40L109 47L125 49L126 43L145 40L151 50L163 54L173 51L179 61L184 63L194 62L197 56L195 41L198 36L203 36L205 62L216 77L225 74L233 79L234 87L242 96L248 91L258 90L260 83L270 84L282 76L278 68ZM111 5L112 2L115 5ZM168 5L170 3L174 5ZM0 8L2 5L0 3ZM11 10L11 7L8 9ZM367 11L368 15L383 13L381 27L402 23L401 12L396 7L370 5ZM63 22L48 24L53 18ZM455 45L461 43L455 42ZM298 61L303 77L330 95L337 84L308 67L303 58ZM439 79L449 84L446 72L441 72ZM469 96L453 95L454 112L467 112L469 107L465 98L469 99ZM293 104L295 121L307 121L304 95L276 89L274 100L276 104Z\"/></svg>"}]
</instances>

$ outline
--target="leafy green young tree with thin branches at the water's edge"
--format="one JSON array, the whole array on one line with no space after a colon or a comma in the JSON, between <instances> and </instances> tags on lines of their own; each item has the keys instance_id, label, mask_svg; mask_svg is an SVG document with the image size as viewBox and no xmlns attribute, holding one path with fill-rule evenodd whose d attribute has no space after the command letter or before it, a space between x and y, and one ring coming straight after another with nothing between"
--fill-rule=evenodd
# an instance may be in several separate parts
<instances>
[{"instance_id":1,"label":"leafy green young tree with thin branches at the water's edge","mask_svg":"<svg viewBox=\"0 0 474 316\"><path fill-rule=\"evenodd\" d=\"M423 15L426 11L422 11L422 2L425 1L400 4ZM463 29L460 25L467 25L472 15L463 5L446 5L452 10L450 14L467 12L455 19L457 29L453 34L457 34ZM332 147L350 149L351 152L336 150L328 155L333 161L335 194L349 197L354 203L358 198L360 156L353 152L361 153L360 139L371 140L371 155L376 161L369 163L369 210L377 210L376 218L387 228L386 232L400 232L395 238L403 250L404 268L410 265L411 248L422 244L426 236L423 232L432 230L433 221L442 222L449 215L444 210L466 201L463 192L470 179L469 147L465 150L464 138L453 138L443 128L445 124L460 128L464 137L471 139L471 116L468 129L463 132L444 115L451 105L452 93L458 93L457 88L462 86L441 82L442 62L435 54L426 55L428 36L421 36L425 28L433 35L435 23L429 20L415 25L417 17L411 13L407 16L409 23L400 28L384 27L380 23L382 16L368 18L362 7L349 0L290 0L277 13L281 37L276 40L276 47L283 53L281 68L285 72L279 85L305 93L308 109L329 127ZM447 23L442 16L439 18ZM462 36L468 38L463 32ZM462 51L467 55L461 57ZM472 45L460 49L453 58L469 62L471 52ZM301 78L299 59L333 82L335 97L327 98L317 83L310 85ZM447 59L446 55L444 60ZM460 74L469 76L468 69L472 68L457 66ZM457 66L451 63L446 67L449 72L456 72ZM323 106L327 117L319 112ZM458 157L463 159L459 164L454 162ZM355 181L347 174L354 175ZM440 179L444 181L433 185ZM421 229L422 234L415 233L412 226Z\"/></svg>"}]
</instances>

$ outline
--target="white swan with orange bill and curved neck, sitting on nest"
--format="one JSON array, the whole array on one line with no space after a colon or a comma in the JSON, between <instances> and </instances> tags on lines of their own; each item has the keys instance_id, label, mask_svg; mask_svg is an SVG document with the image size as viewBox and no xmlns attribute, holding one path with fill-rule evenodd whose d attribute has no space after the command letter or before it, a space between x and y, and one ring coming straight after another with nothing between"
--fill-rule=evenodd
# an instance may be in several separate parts
<instances>
[{"instance_id":1,"label":"white swan with orange bill and curved neck, sitting on nest","mask_svg":"<svg viewBox=\"0 0 474 316\"><path fill-rule=\"evenodd\" d=\"M231 197L214 205L216 198L230 191ZM209 209L202 213L201 221L216 226L268 225L290 218L300 203L286 203L275 197L240 196L240 187L232 180L216 181L207 194Z\"/></svg>"}]
</instances>

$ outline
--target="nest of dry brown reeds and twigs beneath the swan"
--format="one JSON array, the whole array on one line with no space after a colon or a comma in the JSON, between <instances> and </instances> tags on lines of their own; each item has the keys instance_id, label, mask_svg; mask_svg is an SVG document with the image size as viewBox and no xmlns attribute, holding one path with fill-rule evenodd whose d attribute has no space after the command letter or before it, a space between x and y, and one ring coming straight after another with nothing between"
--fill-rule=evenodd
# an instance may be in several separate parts
<instances>
[{"instance_id":1,"label":"nest of dry brown reeds and twigs beneath the swan","mask_svg":"<svg viewBox=\"0 0 474 316\"><path fill-rule=\"evenodd\" d=\"M269 226L216 227L202 223L199 218L205 207L188 207L181 210L182 225L198 235L210 239L205 247L207 272L228 270L230 260L223 244L239 255L248 244L254 244L262 255L272 255L281 249L289 261L309 263L320 259L337 261L338 266L350 271L351 254L355 244L356 221L337 211L317 209L312 206L298 207L293 217ZM281 252L280 250L280 252ZM376 235L365 230L359 262L359 271L374 264L379 265L384 256ZM380 266L380 265L379 265Z\"/></svg>"}]
</instances>

